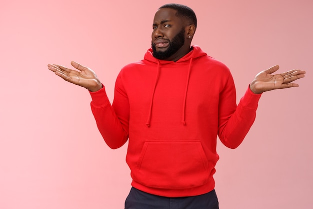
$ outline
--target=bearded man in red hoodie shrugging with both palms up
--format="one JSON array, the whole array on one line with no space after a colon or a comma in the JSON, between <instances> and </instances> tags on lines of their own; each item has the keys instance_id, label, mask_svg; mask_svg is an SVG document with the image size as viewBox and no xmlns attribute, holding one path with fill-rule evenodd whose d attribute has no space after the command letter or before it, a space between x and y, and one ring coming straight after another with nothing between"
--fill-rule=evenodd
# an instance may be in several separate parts
<instances>
[{"instance_id":1,"label":"bearded man in red hoodie shrugging with both palms up","mask_svg":"<svg viewBox=\"0 0 313 209\"><path fill-rule=\"evenodd\" d=\"M157 10L151 49L144 59L119 73L112 105L95 73L76 62L76 70L48 65L57 76L89 90L91 110L107 145L128 139L126 162L133 186L127 209L218 208L214 166L216 137L229 148L243 140L255 118L261 93L297 87L304 71L260 72L238 106L228 68L198 46L194 12L168 4Z\"/></svg>"}]
</instances>

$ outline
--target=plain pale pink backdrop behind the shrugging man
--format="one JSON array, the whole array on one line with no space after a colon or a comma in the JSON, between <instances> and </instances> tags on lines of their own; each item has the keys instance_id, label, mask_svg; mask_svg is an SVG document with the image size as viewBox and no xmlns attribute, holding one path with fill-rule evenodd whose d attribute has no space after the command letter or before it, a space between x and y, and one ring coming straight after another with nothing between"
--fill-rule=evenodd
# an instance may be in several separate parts
<instances>
[{"instance_id":1,"label":"plain pale pink backdrop behind the shrugging man","mask_svg":"<svg viewBox=\"0 0 313 209\"><path fill-rule=\"evenodd\" d=\"M181 0L198 18L193 44L224 62L242 96L261 70L299 68L299 88L264 93L235 150L218 142L220 208L311 208L311 0ZM157 8L168 1L0 2L0 208L123 208L126 146L109 149L90 96L47 70L71 60L92 68L113 98L125 64L150 47Z\"/></svg>"}]
</instances>

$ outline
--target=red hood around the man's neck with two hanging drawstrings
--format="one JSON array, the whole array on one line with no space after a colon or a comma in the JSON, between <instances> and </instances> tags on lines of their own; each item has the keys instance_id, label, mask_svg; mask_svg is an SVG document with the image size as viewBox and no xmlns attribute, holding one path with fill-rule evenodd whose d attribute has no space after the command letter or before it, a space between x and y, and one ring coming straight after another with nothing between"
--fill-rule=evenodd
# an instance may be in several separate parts
<instances>
[{"instance_id":1,"label":"red hood around the man's neck with two hanging drawstrings","mask_svg":"<svg viewBox=\"0 0 313 209\"><path fill-rule=\"evenodd\" d=\"M187 73L187 77L186 77L186 85L185 85L185 90L184 90L184 96L183 96L183 104L182 104L182 113L181 113L181 124L185 125L185 109L186 109L186 98L187 98L187 91L188 91L188 85L189 85L189 78L190 78L190 73L191 73L191 68L192 68L192 61L202 57L202 56L207 56L207 54L205 52L203 52L200 47L193 45L191 46L191 51L186 54L185 56L183 56L182 58L180 58L179 60L177 60L175 63L182 63L182 62L186 62L188 63L188 73ZM157 86L157 81L159 78L159 73L160 73L160 66L161 65L166 65L166 64L172 64L174 63L174 61L167 61L167 60L159 60L156 59L155 57L153 57L152 55L152 49L148 49L148 51L145 53L144 55L144 60L147 60L149 62L153 62L157 64L157 71L156 71L156 75L155 75L155 82L154 82L154 88L152 91L152 96L151 96L151 102L150 102L150 107L149 107L149 113L148 113L148 118L147 118L147 122L146 122L146 126L149 127L150 126L150 122L151 122L151 115L152 115L152 107L153 107L153 98L154 98L154 93L155 93L155 89Z\"/></svg>"}]
</instances>

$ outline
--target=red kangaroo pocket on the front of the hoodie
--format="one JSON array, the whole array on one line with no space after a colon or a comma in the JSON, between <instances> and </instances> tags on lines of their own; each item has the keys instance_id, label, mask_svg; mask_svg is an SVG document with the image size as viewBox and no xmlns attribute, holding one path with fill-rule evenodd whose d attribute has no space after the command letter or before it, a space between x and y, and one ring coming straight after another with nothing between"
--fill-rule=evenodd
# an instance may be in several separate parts
<instances>
[{"instance_id":1,"label":"red kangaroo pocket on the front of the hoodie","mask_svg":"<svg viewBox=\"0 0 313 209\"><path fill-rule=\"evenodd\" d=\"M132 177L149 187L191 188L207 182L212 166L200 141L145 142Z\"/></svg>"}]
</instances>

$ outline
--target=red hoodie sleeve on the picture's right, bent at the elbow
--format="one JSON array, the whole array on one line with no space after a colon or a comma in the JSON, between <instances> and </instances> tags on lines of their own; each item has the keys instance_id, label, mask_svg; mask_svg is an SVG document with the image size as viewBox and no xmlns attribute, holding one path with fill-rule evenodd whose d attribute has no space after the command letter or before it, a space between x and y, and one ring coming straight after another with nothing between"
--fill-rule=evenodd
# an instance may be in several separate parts
<instances>
[{"instance_id":1,"label":"red hoodie sleeve on the picture's right, bent at the elbow","mask_svg":"<svg viewBox=\"0 0 313 209\"><path fill-rule=\"evenodd\" d=\"M260 96L247 88L237 106L235 87L229 74L220 94L218 113L218 137L225 146L234 149L242 142L254 122Z\"/></svg>"}]
</instances>

